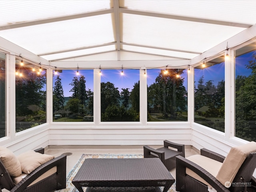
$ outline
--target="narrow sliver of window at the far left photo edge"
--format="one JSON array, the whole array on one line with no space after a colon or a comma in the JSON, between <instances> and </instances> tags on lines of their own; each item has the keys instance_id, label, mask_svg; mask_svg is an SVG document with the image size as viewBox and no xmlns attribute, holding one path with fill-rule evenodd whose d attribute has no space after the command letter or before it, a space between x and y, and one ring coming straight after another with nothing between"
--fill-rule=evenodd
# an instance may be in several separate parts
<instances>
[{"instance_id":1,"label":"narrow sliver of window at the far left photo edge","mask_svg":"<svg viewBox=\"0 0 256 192\"><path fill-rule=\"evenodd\" d=\"M6 136L5 54L0 53L0 138Z\"/></svg>"}]
</instances>

